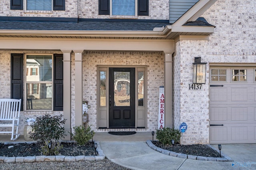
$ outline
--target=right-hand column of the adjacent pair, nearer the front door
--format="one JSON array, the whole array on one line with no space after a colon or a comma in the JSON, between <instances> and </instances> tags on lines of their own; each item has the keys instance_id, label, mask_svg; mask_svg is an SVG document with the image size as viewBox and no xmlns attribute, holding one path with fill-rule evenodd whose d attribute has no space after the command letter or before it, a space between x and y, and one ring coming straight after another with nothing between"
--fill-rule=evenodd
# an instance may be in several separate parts
<instances>
[{"instance_id":1,"label":"right-hand column of the adjacent pair, nearer the front door","mask_svg":"<svg viewBox=\"0 0 256 170\"><path fill-rule=\"evenodd\" d=\"M82 125L82 54L84 50L73 50L75 53L75 125Z\"/></svg>"}]
</instances>

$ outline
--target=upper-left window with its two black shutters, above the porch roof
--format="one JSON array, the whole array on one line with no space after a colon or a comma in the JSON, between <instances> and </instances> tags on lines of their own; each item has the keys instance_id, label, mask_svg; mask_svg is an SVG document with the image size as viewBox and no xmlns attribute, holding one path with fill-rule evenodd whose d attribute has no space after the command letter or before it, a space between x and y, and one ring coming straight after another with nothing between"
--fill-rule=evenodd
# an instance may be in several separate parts
<instances>
[{"instance_id":1,"label":"upper-left window with its two black shutters, above the porch roof","mask_svg":"<svg viewBox=\"0 0 256 170\"><path fill-rule=\"evenodd\" d=\"M23 0L10 0L11 10L23 10ZM65 0L24 0L26 10L65 10Z\"/></svg>"}]
</instances>

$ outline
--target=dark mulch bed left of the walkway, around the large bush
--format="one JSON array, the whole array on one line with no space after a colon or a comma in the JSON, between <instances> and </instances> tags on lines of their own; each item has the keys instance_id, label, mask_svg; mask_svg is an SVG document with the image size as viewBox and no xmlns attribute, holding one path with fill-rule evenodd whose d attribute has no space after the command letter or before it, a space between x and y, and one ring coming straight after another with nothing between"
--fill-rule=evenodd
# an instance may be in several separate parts
<instances>
[{"instance_id":1,"label":"dark mulch bed left of the walkway, around the large bush","mask_svg":"<svg viewBox=\"0 0 256 170\"><path fill-rule=\"evenodd\" d=\"M59 155L64 156L80 156L86 155L91 156L95 155L94 145L78 146L76 143L62 143L63 149L60 150ZM8 149L9 146L13 146ZM40 145L38 143L17 143L17 144L8 144L4 145L1 143L0 146L0 156L40 156L42 153L40 152Z\"/></svg>"}]
</instances>

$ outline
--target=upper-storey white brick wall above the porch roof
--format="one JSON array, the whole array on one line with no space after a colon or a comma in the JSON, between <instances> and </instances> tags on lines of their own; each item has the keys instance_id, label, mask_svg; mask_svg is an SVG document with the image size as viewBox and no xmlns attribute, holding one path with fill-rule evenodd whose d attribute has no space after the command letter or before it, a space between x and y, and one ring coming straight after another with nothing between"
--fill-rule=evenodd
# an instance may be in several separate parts
<instances>
[{"instance_id":1,"label":"upper-storey white brick wall above the porch roof","mask_svg":"<svg viewBox=\"0 0 256 170\"><path fill-rule=\"evenodd\" d=\"M25 1L25 0L24 0ZM110 18L98 15L98 0L66 0L65 11L10 10L10 0L0 1L0 16L64 17L64 18ZM25 6L23 6L25 9ZM169 20L169 0L150 0L149 16L113 16L114 18L138 18Z\"/></svg>"}]
</instances>

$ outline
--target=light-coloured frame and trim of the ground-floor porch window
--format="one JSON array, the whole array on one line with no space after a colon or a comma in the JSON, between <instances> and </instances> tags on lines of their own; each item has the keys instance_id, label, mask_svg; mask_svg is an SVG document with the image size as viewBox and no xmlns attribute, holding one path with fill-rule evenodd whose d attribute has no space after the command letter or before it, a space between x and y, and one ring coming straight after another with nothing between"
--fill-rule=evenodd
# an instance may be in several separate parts
<instances>
[{"instance_id":1,"label":"light-coloured frame and trim of the ground-floor porch window","mask_svg":"<svg viewBox=\"0 0 256 170\"><path fill-rule=\"evenodd\" d=\"M52 96L52 109L40 109L40 110L36 110L36 109L27 109L27 80L26 80L26 75L27 75L27 69L26 69L26 61L27 61L27 56L28 55L47 55L47 56L52 56L52 61L53 61L53 53L26 53L24 54L24 111L53 111L53 96ZM52 62L53 63L53 62ZM53 66L54 64L52 64ZM53 67L52 67L52 81L48 82L48 81L40 81L40 82L33 82L33 81L29 81L29 83L34 83L34 84L39 84L39 83L51 83L52 84L52 92L54 92L54 88L53 88ZM28 74L30 73L30 70L28 71ZM38 73L39 74L39 73ZM33 89L34 90L34 89ZM53 94L52 94L53 95Z\"/></svg>"}]
</instances>

